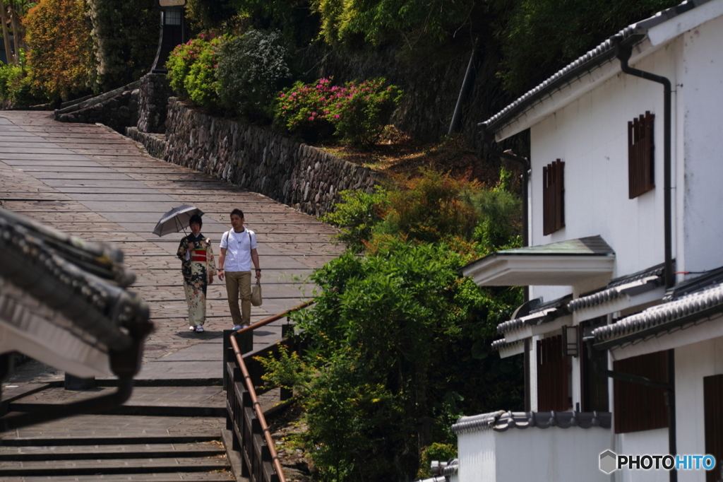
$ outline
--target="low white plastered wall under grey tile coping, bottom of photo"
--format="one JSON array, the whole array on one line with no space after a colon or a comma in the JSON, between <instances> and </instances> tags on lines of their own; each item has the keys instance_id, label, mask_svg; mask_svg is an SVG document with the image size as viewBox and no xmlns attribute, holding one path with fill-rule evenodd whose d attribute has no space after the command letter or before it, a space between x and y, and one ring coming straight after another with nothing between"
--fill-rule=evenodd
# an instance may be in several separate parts
<instances>
[{"instance_id":1,"label":"low white plastered wall under grey tile coping, bottom of photo","mask_svg":"<svg viewBox=\"0 0 723 482\"><path fill-rule=\"evenodd\" d=\"M612 429L510 428L458 436L459 482L609 482L599 456Z\"/></svg>"}]
</instances>

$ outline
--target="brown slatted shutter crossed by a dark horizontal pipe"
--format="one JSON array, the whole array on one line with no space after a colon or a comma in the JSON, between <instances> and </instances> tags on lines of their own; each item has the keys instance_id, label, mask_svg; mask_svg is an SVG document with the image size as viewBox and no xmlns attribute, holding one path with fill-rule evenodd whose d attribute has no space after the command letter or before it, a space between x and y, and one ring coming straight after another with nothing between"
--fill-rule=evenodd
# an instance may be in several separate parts
<instances>
[{"instance_id":1,"label":"brown slatted shutter crossed by a dark horizontal pipe","mask_svg":"<svg viewBox=\"0 0 723 482\"><path fill-rule=\"evenodd\" d=\"M618 360L612 364L612 369L644 376L653 381L667 382L668 354L663 351ZM615 379L613 391L616 434L668 426L668 407L664 389Z\"/></svg>"}]
</instances>

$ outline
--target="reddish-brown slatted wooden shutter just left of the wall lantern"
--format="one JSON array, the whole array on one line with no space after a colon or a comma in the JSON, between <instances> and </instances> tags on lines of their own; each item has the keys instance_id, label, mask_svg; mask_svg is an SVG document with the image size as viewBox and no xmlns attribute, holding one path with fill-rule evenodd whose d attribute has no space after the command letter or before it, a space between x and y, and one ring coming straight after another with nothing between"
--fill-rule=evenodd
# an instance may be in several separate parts
<instances>
[{"instance_id":1,"label":"reddish-brown slatted wooden shutter just left of the wall lantern","mask_svg":"<svg viewBox=\"0 0 723 482\"><path fill-rule=\"evenodd\" d=\"M570 408L568 357L562 355L562 335L537 341L537 411Z\"/></svg>"}]
</instances>

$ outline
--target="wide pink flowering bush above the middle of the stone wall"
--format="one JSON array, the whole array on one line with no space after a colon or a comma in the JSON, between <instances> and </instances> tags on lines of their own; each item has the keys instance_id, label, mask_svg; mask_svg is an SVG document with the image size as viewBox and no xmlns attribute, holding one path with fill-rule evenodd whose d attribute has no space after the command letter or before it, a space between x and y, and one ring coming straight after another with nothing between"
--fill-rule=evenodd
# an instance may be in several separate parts
<instances>
[{"instance_id":1,"label":"wide pink flowering bush above the middle of the stone wall","mask_svg":"<svg viewBox=\"0 0 723 482\"><path fill-rule=\"evenodd\" d=\"M382 77L343 86L331 85L327 78L315 84L297 82L276 99L275 123L307 139L308 132L330 126L348 143L374 143L402 96L399 88L385 83Z\"/></svg>"}]
</instances>

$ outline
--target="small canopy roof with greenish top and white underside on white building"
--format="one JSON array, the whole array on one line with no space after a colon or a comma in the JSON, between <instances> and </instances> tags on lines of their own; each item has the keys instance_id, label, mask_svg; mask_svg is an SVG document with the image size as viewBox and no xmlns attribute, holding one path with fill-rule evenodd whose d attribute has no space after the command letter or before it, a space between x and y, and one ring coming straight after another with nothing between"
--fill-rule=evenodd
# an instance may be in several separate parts
<instances>
[{"instance_id":1,"label":"small canopy roof with greenish top and white underside on white building","mask_svg":"<svg viewBox=\"0 0 723 482\"><path fill-rule=\"evenodd\" d=\"M600 236L497 251L461 268L487 286L573 286L612 276L615 251ZM605 280L607 283L607 279Z\"/></svg>"}]
</instances>

